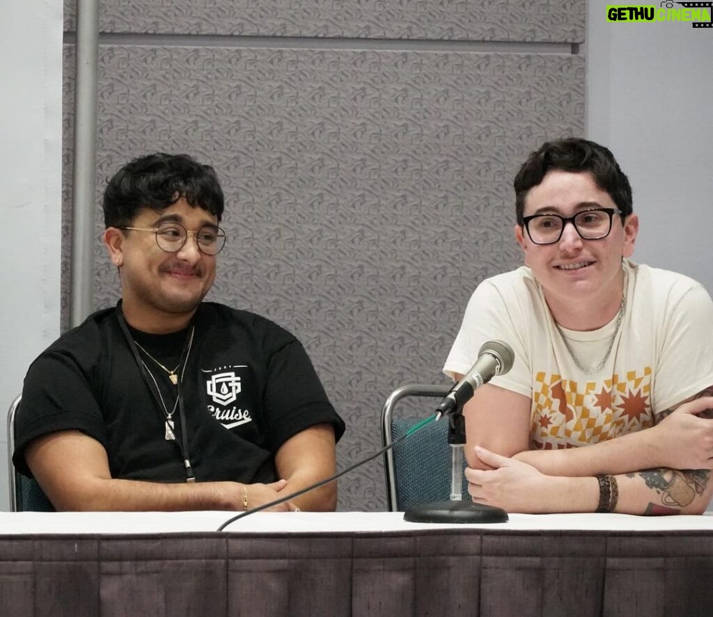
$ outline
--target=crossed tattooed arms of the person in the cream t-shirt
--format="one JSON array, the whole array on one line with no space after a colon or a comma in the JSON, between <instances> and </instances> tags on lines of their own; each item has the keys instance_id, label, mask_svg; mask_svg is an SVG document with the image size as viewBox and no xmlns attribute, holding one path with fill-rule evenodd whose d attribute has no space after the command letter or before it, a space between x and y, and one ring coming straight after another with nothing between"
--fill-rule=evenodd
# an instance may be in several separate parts
<instances>
[{"instance_id":1,"label":"crossed tattooed arms of the person in the cream t-shirt","mask_svg":"<svg viewBox=\"0 0 713 617\"><path fill-rule=\"evenodd\" d=\"M655 414L656 425L566 450L528 450L530 399L495 385L465 406L468 492L508 512L595 512L613 475L625 514L700 514L713 496L713 385Z\"/></svg>"}]
</instances>

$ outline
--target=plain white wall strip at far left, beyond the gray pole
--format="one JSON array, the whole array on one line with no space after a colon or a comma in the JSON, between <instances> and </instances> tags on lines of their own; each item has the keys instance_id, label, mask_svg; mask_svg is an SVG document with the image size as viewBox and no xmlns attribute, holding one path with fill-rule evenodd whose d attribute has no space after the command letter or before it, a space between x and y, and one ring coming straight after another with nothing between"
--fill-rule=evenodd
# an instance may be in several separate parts
<instances>
[{"instance_id":1,"label":"plain white wall strip at far left, beyond the gray pole","mask_svg":"<svg viewBox=\"0 0 713 617\"><path fill-rule=\"evenodd\" d=\"M0 19L0 450L27 366L59 334L62 1L6 1ZM0 510L9 507L0 463Z\"/></svg>"}]
</instances>

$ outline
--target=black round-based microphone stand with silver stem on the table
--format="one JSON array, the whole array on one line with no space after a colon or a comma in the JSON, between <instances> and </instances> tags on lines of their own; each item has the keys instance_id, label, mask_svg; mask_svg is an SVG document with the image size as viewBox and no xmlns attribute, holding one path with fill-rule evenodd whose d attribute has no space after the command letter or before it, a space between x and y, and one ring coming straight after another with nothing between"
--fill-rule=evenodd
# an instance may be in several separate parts
<instances>
[{"instance_id":1,"label":"black round-based microphone stand with silver stem on the table","mask_svg":"<svg viewBox=\"0 0 713 617\"><path fill-rule=\"evenodd\" d=\"M448 443L451 445L451 499L406 510L404 520L412 523L504 523L508 513L494 506L463 500L463 447L466 419L461 408L448 413Z\"/></svg>"}]
</instances>

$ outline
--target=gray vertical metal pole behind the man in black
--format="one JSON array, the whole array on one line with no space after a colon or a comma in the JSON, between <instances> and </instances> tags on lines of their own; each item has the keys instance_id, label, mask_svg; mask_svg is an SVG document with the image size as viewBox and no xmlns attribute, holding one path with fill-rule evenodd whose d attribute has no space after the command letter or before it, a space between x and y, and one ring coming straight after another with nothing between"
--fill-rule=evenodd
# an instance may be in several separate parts
<instances>
[{"instance_id":1,"label":"gray vertical metal pole behind the man in black","mask_svg":"<svg viewBox=\"0 0 713 617\"><path fill-rule=\"evenodd\" d=\"M69 299L69 325L71 327L78 326L93 308L98 51L99 2L98 0L77 0L72 256Z\"/></svg>"}]
</instances>

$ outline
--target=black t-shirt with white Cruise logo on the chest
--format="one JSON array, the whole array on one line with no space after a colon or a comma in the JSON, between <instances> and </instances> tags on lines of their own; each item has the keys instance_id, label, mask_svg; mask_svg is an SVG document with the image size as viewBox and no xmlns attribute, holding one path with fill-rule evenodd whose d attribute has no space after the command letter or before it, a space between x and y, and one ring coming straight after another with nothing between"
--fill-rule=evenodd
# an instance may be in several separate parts
<instances>
[{"instance_id":1,"label":"black t-shirt with white Cruise logo on the chest","mask_svg":"<svg viewBox=\"0 0 713 617\"><path fill-rule=\"evenodd\" d=\"M13 457L24 474L30 475L24 447L61 430L80 430L101 442L112 477L156 482L185 482L184 430L198 481L247 483L277 479L275 452L310 426L329 423L337 440L342 436L344 422L292 334L255 313L204 302L193 320L185 369L179 370L185 427L176 410L177 439L166 440L155 386L169 413L178 387L158 363L175 368L190 328L166 336L130 328L129 336L155 358L138 352L148 369L143 373L119 319L118 309L93 313L30 366Z\"/></svg>"}]
</instances>

